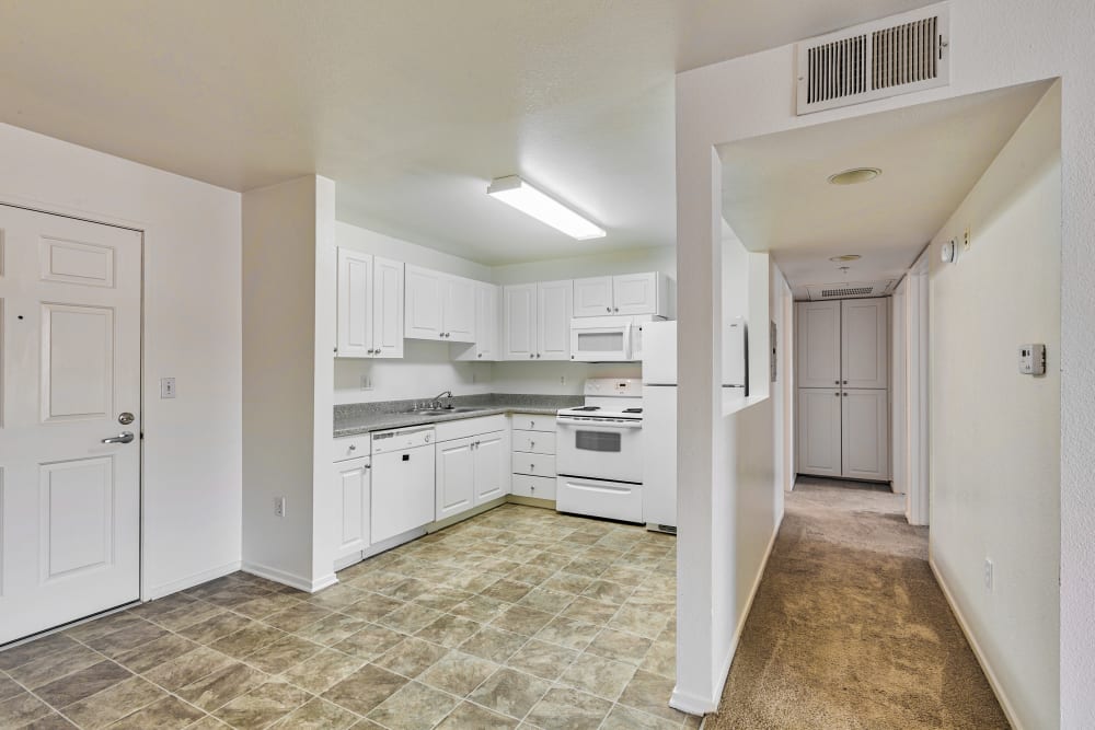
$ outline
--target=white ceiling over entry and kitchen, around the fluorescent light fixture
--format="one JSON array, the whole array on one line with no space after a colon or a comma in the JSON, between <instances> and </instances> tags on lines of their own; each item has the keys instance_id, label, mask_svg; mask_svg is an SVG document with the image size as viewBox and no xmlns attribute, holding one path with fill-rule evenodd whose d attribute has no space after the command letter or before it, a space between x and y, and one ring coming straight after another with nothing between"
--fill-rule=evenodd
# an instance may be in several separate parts
<instances>
[{"instance_id":1,"label":"white ceiling over entry and kitchen, around the fluorescent light fixture","mask_svg":"<svg viewBox=\"0 0 1095 730\"><path fill-rule=\"evenodd\" d=\"M0 3L0 120L485 264L676 237L673 73L922 0ZM609 230L489 199L520 174Z\"/></svg>"}]
</instances>

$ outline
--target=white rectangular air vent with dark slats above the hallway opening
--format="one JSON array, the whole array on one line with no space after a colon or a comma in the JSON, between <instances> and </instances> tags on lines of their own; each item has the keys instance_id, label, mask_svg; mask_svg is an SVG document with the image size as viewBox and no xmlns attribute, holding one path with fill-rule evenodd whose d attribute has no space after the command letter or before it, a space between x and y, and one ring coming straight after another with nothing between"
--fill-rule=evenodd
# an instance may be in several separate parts
<instances>
[{"instance_id":1,"label":"white rectangular air vent with dark slats above the hallway opening","mask_svg":"<svg viewBox=\"0 0 1095 730\"><path fill-rule=\"evenodd\" d=\"M798 114L950 83L946 4L798 44Z\"/></svg>"}]
</instances>

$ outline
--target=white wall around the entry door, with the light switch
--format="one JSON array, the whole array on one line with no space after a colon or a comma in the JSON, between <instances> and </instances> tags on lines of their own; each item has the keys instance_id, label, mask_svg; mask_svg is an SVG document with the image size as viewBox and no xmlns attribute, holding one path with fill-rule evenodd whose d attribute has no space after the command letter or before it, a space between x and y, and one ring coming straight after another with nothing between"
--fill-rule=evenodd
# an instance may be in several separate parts
<instances>
[{"instance_id":1,"label":"white wall around the entry door, with the light switch","mask_svg":"<svg viewBox=\"0 0 1095 730\"><path fill-rule=\"evenodd\" d=\"M141 595L238 569L240 195L0 125L0 200L145 231Z\"/></svg>"}]
</instances>

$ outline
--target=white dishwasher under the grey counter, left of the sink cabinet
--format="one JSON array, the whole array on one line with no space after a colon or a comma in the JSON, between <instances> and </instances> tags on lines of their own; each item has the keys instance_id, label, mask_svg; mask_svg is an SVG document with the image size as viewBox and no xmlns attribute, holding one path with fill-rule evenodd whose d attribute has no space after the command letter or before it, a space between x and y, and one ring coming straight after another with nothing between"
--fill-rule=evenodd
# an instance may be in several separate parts
<instances>
[{"instance_id":1,"label":"white dishwasher under the grey counter, left of the sink cabinet","mask_svg":"<svg viewBox=\"0 0 1095 730\"><path fill-rule=\"evenodd\" d=\"M372 544L434 521L434 427L372 434Z\"/></svg>"}]
</instances>

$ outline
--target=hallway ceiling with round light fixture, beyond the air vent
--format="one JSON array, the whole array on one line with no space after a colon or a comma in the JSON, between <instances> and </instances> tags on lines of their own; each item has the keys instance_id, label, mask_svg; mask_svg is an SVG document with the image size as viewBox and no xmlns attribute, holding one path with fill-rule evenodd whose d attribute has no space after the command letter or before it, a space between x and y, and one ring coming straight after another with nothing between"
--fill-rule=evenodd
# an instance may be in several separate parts
<instances>
[{"instance_id":1,"label":"hallway ceiling with round light fixture, beyond the air vent","mask_svg":"<svg viewBox=\"0 0 1095 730\"><path fill-rule=\"evenodd\" d=\"M772 252L796 298L810 283L900 279L1047 89L1025 84L721 146L723 216L747 248ZM828 184L858 166L883 174ZM842 254L863 258L829 260Z\"/></svg>"}]
</instances>

